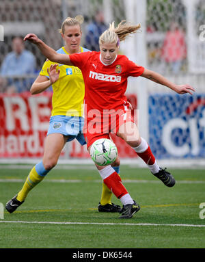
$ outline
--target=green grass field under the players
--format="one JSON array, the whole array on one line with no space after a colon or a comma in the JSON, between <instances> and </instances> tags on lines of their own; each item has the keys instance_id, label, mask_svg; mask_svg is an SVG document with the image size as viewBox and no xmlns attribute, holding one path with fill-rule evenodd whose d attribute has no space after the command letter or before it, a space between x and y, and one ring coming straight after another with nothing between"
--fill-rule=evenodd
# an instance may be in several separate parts
<instances>
[{"instance_id":1,"label":"green grass field under the players","mask_svg":"<svg viewBox=\"0 0 205 262\"><path fill-rule=\"evenodd\" d=\"M11 166L12 167L12 166ZM147 169L121 166L121 177L141 210L130 220L99 213L101 181L94 166L57 166L16 212L0 219L0 248L205 248L204 170L169 170L166 187ZM22 187L29 167L0 165L0 202ZM112 201L120 204L113 196ZM204 211L205 215L205 211Z\"/></svg>"}]
</instances>

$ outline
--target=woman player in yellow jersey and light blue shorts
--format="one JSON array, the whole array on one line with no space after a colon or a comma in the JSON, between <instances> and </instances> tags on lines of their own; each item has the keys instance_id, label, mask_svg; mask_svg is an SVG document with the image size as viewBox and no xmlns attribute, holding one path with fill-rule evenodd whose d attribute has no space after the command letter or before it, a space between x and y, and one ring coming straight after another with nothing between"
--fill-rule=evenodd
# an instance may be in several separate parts
<instances>
[{"instance_id":1,"label":"woman player in yellow jersey and light blue shorts","mask_svg":"<svg viewBox=\"0 0 205 262\"><path fill-rule=\"evenodd\" d=\"M66 18L59 31L65 41L65 47L61 47L57 53L69 55L89 51L80 46L82 36L80 19ZM25 201L29 191L40 183L46 174L57 164L61 150L64 148L66 142L76 138L81 145L86 144L82 133L84 123L82 106L85 86L81 70L75 66L54 64L46 60L40 75L31 86L31 94L43 92L51 85L53 87L53 109L49 131L46 136L43 159L31 169L20 192L6 204L5 208L10 213L14 212ZM113 163L113 168L119 173L119 158ZM107 185L102 183L102 195L98 211L121 211L120 206L111 203L111 195L111 190Z\"/></svg>"}]
</instances>

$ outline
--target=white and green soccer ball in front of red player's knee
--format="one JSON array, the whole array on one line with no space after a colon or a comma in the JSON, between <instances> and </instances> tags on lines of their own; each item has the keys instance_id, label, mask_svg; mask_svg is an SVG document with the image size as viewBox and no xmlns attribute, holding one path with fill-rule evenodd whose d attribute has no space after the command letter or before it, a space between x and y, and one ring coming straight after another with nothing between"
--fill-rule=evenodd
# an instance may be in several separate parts
<instances>
[{"instance_id":1,"label":"white and green soccer ball in front of red player's knee","mask_svg":"<svg viewBox=\"0 0 205 262\"><path fill-rule=\"evenodd\" d=\"M117 158L118 149L111 140L100 138L92 144L90 156L98 166L107 166Z\"/></svg>"}]
</instances>

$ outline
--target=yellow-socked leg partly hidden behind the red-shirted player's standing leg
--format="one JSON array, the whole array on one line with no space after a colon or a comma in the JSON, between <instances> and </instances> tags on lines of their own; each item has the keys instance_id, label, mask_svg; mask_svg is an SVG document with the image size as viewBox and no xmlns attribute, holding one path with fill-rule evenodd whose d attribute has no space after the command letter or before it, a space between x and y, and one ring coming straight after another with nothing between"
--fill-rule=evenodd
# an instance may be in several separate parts
<instances>
[{"instance_id":1,"label":"yellow-socked leg partly hidden behind the red-shirted player's standing leg","mask_svg":"<svg viewBox=\"0 0 205 262\"><path fill-rule=\"evenodd\" d=\"M120 174L120 158L117 157L117 159L114 161L114 163L111 164L113 170ZM98 211L99 212L120 212L121 207L119 205L115 205L111 202L111 196L112 192L105 185L105 183L102 183L102 194L100 198L100 202L98 205Z\"/></svg>"}]
</instances>

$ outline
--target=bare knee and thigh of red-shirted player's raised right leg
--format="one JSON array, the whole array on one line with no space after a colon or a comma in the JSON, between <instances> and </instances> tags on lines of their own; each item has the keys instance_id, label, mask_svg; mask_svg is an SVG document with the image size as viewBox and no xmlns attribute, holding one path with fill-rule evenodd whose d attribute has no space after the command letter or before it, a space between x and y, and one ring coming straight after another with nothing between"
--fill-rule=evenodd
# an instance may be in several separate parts
<instances>
[{"instance_id":1,"label":"bare knee and thigh of red-shirted player's raised right leg","mask_svg":"<svg viewBox=\"0 0 205 262\"><path fill-rule=\"evenodd\" d=\"M141 141L139 129L135 122L124 122L119 127L117 135L132 147L139 146Z\"/></svg>"}]
</instances>

